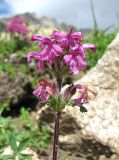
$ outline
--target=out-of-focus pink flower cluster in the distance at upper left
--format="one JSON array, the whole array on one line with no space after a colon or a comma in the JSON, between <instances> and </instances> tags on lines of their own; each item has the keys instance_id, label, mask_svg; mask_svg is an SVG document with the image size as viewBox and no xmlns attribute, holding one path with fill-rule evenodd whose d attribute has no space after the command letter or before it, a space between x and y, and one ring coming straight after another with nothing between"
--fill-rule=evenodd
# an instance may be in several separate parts
<instances>
[{"instance_id":1,"label":"out-of-focus pink flower cluster in the distance at upper left","mask_svg":"<svg viewBox=\"0 0 119 160\"><path fill-rule=\"evenodd\" d=\"M11 33L19 33L25 36L28 32L28 28L23 25L27 20L25 18L14 17L10 20L10 23L6 25L6 30Z\"/></svg>"}]
</instances>

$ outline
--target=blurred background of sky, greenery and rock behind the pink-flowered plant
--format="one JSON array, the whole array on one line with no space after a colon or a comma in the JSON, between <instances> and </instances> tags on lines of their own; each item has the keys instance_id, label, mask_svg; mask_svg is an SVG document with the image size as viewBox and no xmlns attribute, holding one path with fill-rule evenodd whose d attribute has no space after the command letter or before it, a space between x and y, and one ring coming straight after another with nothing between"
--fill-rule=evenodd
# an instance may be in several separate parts
<instances>
[{"instance_id":1,"label":"blurred background of sky, greenery and rock behind the pink-flowered plant","mask_svg":"<svg viewBox=\"0 0 119 160\"><path fill-rule=\"evenodd\" d=\"M69 26L97 52L63 85L91 83L98 97L85 114L64 110L59 160L119 160L119 0L0 0L0 160L51 160L54 114L33 90L52 77L26 56L38 51L33 34Z\"/></svg>"}]
</instances>

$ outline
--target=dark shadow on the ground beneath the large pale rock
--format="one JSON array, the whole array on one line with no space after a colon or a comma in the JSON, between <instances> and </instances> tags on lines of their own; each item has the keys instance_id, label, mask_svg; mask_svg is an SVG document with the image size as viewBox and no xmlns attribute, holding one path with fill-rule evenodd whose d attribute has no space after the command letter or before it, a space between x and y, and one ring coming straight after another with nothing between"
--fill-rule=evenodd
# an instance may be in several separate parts
<instances>
[{"instance_id":1,"label":"dark shadow on the ground beneath the large pale rock","mask_svg":"<svg viewBox=\"0 0 119 160\"><path fill-rule=\"evenodd\" d=\"M114 153L107 145L95 141L93 139L80 139L79 142L75 144L60 144L60 148L69 155L74 155L75 157L85 158L86 160L98 160L101 155L106 158L110 158Z\"/></svg>"}]
</instances>

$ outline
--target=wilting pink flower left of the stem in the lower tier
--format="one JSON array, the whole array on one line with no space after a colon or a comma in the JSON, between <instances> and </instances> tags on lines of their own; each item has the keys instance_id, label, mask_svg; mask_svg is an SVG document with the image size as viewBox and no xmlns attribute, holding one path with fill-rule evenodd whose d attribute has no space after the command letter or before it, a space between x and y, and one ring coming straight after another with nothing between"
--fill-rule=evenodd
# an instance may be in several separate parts
<instances>
[{"instance_id":1,"label":"wilting pink flower left of the stem in the lower tier","mask_svg":"<svg viewBox=\"0 0 119 160\"><path fill-rule=\"evenodd\" d=\"M52 84L44 79L40 79L38 87L35 91L33 91L33 94L36 97L39 97L42 103L45 103L47 102L48 98L52 95L52 92Z\"/></svg>"}]
</instances>

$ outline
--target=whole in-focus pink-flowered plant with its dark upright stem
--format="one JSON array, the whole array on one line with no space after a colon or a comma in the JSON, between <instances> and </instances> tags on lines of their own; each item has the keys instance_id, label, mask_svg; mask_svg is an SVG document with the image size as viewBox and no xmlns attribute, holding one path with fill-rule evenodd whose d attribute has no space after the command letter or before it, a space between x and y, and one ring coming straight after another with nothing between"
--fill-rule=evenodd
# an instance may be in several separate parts
<instances>
[{"instance_id":1,"label":"whole in-focus pink-flowered plant with its dark upright stem","mask_svg":"<svg viewBox=\"0 0 119 160\"><path fill-rule=\"evenodd\" d=\"M48 71L54 79L53 82L39 79L33 94L55 112L53 160L57 160L59 119L62 110L70 104L79 106L80 111L85 112L83 104L88 103L88 92L94 97L97 95L95 90L83 84L71 84L62 92L62 84L67 77L73 77L86 68L86 51L91 49L95 53L96 47L90 43L82 44L83 35L80 32L73 33L71 27L67 33L53 31L50 37L33 35L31 41L38 41L39 51L28 53L28 61L35 59L37 69L42 73ZM72 100L71 97L77 90L79 97Z\"/></svg>"}]
</instances>

